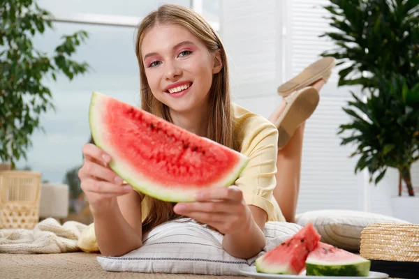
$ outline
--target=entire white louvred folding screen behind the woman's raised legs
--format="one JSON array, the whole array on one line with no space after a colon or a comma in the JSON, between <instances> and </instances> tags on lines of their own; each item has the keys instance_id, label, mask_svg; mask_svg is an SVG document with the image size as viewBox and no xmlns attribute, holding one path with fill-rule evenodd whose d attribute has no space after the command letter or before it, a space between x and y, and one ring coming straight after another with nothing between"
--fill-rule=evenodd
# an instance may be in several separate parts
<instances>
[{"instance_id":1,"label":"entire white louvred folding screen behind the woman's raised legs","mask_svg":"<svg viewBox=\"0 0 419 279\"><path fill-rule=\"evenodd\" d=\"M330 30L327 0L220 1L221 38L228 52L233 100L269 117L281 103L277 86L291 79L335 47ZM342 110L357 86L337 86L333 70L321 91L316 112L304 133L302 175L297 213L316 209L353 209L391 215L390 196L395 195L395 173L390 170L381 185L368 183L367 172L355 174L358 158L351 145L341 146L339 125L351 121ZM419 163L412 168L419 186ZM419 195L419 193L418 193Z\"/></svg>"}]
</instances>

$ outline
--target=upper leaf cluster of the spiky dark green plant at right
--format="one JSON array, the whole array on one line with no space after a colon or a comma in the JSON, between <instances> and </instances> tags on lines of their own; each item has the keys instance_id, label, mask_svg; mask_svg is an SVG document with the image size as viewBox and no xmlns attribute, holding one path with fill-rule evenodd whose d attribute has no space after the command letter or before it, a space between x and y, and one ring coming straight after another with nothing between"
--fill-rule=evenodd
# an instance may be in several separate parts
<instances>
[{"instance_id":1,"label":"upper leaf cluster of the spiky dark green plant at right","mask_svg":"<svg viewBox=\"0 0 419 279\"><path fill-rule=\"evenodd\" d=\"M386 78L402 75L409 87L419 83L419 0L330 0L325 9L334 31L322 36L337 48L323 56L349 63L339 71L339 86L376 88L376 70Z\"/></svg>"}]
</instances>

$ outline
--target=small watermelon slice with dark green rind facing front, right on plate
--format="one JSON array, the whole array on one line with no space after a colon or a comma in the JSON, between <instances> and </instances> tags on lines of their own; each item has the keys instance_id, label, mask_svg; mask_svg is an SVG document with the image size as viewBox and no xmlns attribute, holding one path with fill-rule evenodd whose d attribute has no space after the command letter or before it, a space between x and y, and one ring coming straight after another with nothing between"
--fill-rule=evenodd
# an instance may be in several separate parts
<instances>
[{"instance_id":1,"label":"small watermelon slice with dark green rind facing front, right on plate","mask_svg":"<svg viewBox=\"0 0 419 279\"><path fill-rule=\"evenodd\" d=\"M318 243L306 260L307 276L368 276L371 262L326 243Z\"/></svg>"}]
</instances>

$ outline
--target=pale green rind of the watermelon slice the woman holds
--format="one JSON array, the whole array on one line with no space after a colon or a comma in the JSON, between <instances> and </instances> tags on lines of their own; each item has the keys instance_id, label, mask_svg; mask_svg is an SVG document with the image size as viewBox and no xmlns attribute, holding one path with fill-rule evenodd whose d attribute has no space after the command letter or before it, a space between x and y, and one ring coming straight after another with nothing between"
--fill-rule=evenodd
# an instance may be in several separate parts
<instances>
[{"instance_id":1,"label":"pale green rind of the watermelon slice the woman holds","mask_svg":"<svg viewBox=\"0 0 419 279\"><path fill-rule=\"evenodd\" d=\"M107 146L103 138L101 138L101 116L96 115L94 112L96 107L101 107L98 104L103 98L109 98L108 96L103 95L94 91L91 96L91 103L89 107L89 125L91 129L91 135L94 139L96 146L101 148L103 151L108 153L114 160L109 163L110 169L112 169L117 175L121 176L129 185L133 188L149 197L154 197L156 199L161 199L166 202L194 202L196 198L194 197L198 190L202 190L202 187L197 186L195 189L191 190L182 190L179 189L170 191L166 187L158 187L156 183L149 181L145 176L142 176L138 173L128 162L124 162L123 158L118 158L117 153L112 151L111 146ZM216 142L214 142L217 144ZM221 144L219 144L222 146ZM225 147L225 146L223 146ZM228 176L224 179L220 179L212 187L226 187L233 185L235 180L240 176L244 167L249 163L249 158L244 154L234 151L237 153L238 161L236 167L231 170ZM120 162L120 163L117 163Z\"/></svg>"}]
</instances>

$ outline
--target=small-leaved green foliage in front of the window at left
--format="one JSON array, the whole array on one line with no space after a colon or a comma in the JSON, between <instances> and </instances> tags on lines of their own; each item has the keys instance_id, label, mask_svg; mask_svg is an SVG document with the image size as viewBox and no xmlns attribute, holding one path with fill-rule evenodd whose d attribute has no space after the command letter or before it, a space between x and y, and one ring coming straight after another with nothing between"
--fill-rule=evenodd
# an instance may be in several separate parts
<instances>
[{"instance_id":1,"label":"small-leaved green foliage in front of the window at left","mask_svg":"<svg viewBox=\"0 0 419 279\"><path fill-rule=\"evenodd\" d=\"M42 82L64 73L72 80L87 72L87 63L71 60L88 34L78 31L57 45L52 56L36 50L34 36L52 27L52 15L33 0L2 0L0 5L0 159L15 167L27 158L31 135L41 115L54 110L52 92Z\"/></svg>"}]
</instances>

